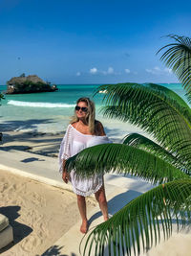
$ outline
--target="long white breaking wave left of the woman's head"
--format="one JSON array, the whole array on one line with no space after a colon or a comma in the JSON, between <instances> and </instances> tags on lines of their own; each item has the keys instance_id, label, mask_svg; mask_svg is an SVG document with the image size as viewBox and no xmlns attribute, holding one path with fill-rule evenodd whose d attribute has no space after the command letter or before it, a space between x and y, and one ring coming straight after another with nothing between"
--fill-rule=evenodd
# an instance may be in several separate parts
<instances>
[{"instance_id":1,"label":"long white breaking wave left of the woman's head","mask_svg":"<svg viewBox=\"0 0 191 256\"><path fill-rule=\"evenodd\" d=\"M66 107L74 107L75 105L71 104L51 104L51 103L32 103L32 102L20 102L20 101L13 101L9 100L8 105L18 105L18 106L30 106L30 107L61 107L61 108L66 108Z\"/></svg>"}]
</instances>

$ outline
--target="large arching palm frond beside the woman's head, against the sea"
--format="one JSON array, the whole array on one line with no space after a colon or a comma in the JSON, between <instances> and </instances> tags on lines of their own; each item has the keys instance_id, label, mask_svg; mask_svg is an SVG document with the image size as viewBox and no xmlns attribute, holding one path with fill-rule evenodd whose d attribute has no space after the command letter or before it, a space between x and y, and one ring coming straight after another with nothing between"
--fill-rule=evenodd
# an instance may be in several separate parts
<instances>
[{"instance_id":1,"label":"large arching palm frond beside the woman's head, against the sea","mask_svg":"<svg viewBox=\"0 0 191 256\"><path fill-rule=\"evenodd\" d=\"M172 90L158 84L118 83L106 90L103 114L129 121L154 135L159 144L191 168L191 110Z\"/></svg>"}]
</instances>

